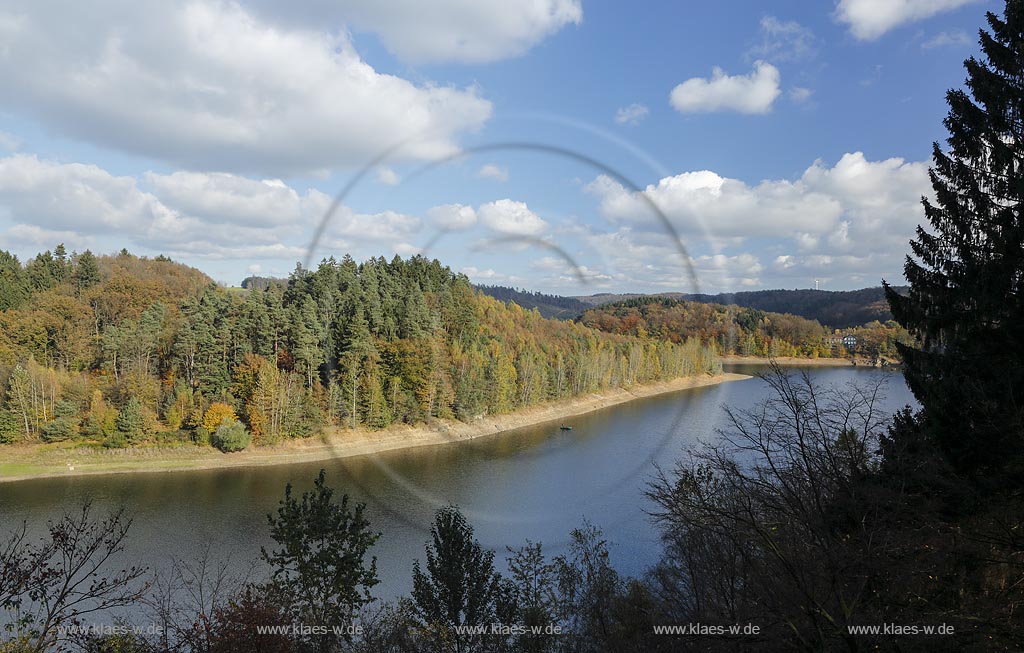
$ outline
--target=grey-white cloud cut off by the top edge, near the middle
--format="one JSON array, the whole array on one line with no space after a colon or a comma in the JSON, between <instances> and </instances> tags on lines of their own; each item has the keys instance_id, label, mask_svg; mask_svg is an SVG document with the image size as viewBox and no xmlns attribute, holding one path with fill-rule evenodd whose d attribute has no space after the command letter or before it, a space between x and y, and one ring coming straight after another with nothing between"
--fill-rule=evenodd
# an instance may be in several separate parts
<instances>
[{"instance_id":1,"label":"grey-white cloud cut off by the top edge, near the middle","mask_svg":"<svg viewBox=\"0 0 1024 653\"><path fill-rule=\"evenodd\" d=\"M256 0L264 14L311 29L375 32L407 61L485 63L527 51L583 20L580 0Z\"/></svg>"}]
</instances>

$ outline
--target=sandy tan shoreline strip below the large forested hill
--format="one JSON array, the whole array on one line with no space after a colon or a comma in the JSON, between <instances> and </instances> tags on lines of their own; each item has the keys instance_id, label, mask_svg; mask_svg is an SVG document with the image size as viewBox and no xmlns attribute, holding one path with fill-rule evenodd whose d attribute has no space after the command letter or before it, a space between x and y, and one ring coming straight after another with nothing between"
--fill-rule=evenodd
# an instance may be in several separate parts
<instances>
[{"instance_id":1,"label":"sandy tan shoreline strip below the large forested hill","mask_svg":"<svg viewBox=\"0 0 1024 653\"><path fill-rule=\"evenodd\" d=\"M43 444L9 445L0 449L0 452L4 453L4 460L0 461L0 483L100 474L155 474L291 465L450 444L557 422L645 397L751 378L732 373L682 377L629 389L615 388L571 399L551 401L472 422L434 420L430 424L392 426L382 431L334 427L321 436L247 449L238 453L221 453L211 447L195 445L112 450L51 447ZM28 460L33 456L39 460L36 462ZM26 462L19 463L19 458L25 458ZM7 470L10 470L10 473Z\"/></svg>"}]
</instances>

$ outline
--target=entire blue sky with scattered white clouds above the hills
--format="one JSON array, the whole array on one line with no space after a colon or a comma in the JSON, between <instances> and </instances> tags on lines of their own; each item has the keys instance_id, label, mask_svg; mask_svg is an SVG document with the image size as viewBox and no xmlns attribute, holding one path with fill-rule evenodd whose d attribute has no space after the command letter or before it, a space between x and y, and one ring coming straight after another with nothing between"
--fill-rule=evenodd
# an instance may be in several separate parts
<instances>
[{"instance_id":1,"label":"entire blue sky with scattered white clouds above the hills","mask_svg":"<svg viewBox=\"0 0 1024 653\"><path fill-rule=\"evenodd\" d=\"M425 4L6 2L0 248L283 276L365 172L313 260L425 253L559 294L899 281L944 94L999 8Z\"/></svg>"}]
</instances>

